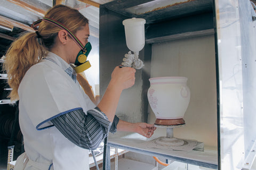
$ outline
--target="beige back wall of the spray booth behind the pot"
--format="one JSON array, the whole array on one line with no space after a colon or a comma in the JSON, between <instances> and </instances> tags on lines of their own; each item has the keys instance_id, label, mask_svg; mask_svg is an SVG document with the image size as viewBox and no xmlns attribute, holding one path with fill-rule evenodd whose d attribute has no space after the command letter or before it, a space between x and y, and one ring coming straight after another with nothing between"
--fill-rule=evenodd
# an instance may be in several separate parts
<instances>
[{"instance_id":1,"label":"beige back wall of the spray booth behind the pot","mask_svg":"<svg viewBox=\"0 0 256 170\"><path fill-rule=\"evenodd\" d=\"M214 35L176 39L152 44L150 78L187 77L190 103L186 125L174 129L174 137L204 142L217 150L217 88ZM170 111L171 114L172 111ZM148 123L156 117L149 106ZM165 128L157 128L166 135Z\"/></svg>"}]
</instances>

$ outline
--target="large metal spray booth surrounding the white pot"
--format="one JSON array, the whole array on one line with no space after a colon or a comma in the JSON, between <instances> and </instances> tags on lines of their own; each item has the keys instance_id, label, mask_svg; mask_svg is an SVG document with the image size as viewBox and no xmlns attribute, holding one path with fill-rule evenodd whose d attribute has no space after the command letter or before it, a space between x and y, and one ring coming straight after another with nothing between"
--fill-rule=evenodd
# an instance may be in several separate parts
<instances>
[{"instance_id":1,"label":"large metal spray booth surrounding the white pot","mask_svg":"<svg viewBox=\"0 0 256 170\"><path fill-rule=\"evenodd\" d=\"M108 147L212 169L250 169L256 139L253 5L247 0L117 0L101 5L100 95L130 51L122 22L146 20L145 46L139 52L144 66L135 73L134 86L122 92L116 112L121 120L155 122L147 96L150 78L185 77L190 90L185 123L171 128L175 138L188 141L183 150L153 142L168 135L170 127L161 126L150 139L117 132L109 136ZM194 148L189 141L196 143Z\"/></svg>"}]
</instances>

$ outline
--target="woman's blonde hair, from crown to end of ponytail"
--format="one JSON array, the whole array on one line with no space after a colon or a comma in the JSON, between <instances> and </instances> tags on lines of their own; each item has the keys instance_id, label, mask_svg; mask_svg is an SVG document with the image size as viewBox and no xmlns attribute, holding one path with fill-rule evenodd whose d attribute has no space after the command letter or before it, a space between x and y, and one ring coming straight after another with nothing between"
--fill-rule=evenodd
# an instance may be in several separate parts
<instances>
[{"instance_id":1,"label":"woman's blonde hair, from crown to end of ponytail","mask_svg":"<svg viewBox=\"0 0 256 170\"><path fill-rule=\"evenodd\" d=\"M65 6L56 5L46 12L45 17L65 25L73 33L89 21L78 10ZM15 40L6 52L4 70L8 74L8 83L12 88L9 94L11 100L18 100L18 88L29 68L46 56L47 51L54 46L55 38L60 28L54 24L42 21L38 26L38 33L42 44L38 43L38 36L35 32L29 32Z\"/></svg>"}]
</instances>

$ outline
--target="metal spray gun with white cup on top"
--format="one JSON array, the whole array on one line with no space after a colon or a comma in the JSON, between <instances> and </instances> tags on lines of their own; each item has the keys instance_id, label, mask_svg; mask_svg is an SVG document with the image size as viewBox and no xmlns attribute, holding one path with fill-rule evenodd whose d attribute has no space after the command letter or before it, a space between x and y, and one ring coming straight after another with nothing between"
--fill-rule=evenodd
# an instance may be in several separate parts
<instances>
[{"instance_id":1,"label":"metal spray gun with white cup on top","mask_svg":"<svg viewBox=\"0 0 256 170\"><path fill-rule=\"evenodd\" d=\"M122 66L141 69L144 64L139 59L139 52L145 45L145 19L132 18L123 21L127 47L134 53L124 55Z\"/></svg>"}]
</instances>

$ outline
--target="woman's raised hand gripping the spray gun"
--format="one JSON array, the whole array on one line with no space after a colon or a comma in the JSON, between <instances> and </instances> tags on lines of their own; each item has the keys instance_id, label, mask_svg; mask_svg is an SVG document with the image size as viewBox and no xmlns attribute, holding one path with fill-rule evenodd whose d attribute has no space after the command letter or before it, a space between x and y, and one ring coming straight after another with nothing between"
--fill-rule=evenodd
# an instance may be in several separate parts
<instances>
[{"instance_id":1,"label":"woman's raised hand gripping the spray gun","mask_svg":"<svg viewBox=\"0 0 256 170\"><path fill-rule=\"evenodd\" d=\"M136 70L132 67L116 66L111 74L111 82L114 82L116 88L127 89L133 86L135 82Z\"/></svg>"}]
</instances>

